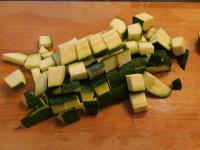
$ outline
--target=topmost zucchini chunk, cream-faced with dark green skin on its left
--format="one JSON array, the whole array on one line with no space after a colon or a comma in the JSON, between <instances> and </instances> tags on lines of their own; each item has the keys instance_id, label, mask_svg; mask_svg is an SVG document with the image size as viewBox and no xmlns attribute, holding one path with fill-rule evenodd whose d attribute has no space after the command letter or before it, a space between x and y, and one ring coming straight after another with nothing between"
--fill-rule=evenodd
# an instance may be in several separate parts
<instances>
[{"instance_id":1,"label":"topmost zucchini chunk, cream-faced with dark green skin on its left","mask_svg":"<svg viewBox=\"0 0 200 150\"><path fill-rule=\"evenodd\" d=\"M140 23L143 31L147 31L153 26L154 17L148 13L141 13L133 16L133 23Z\"/></svg>"}]
</instances>

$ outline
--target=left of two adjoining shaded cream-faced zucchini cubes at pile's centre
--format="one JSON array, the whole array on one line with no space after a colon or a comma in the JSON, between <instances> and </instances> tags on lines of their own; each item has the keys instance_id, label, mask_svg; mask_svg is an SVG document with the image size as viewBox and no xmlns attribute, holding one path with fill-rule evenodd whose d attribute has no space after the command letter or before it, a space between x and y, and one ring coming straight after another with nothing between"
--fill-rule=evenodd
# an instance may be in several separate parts
<instances>
[{"instance_id":1,"label":"left of two adjoining shaded cream-faced zucchini cubes at pile's centre","mask_svg":"<svg viewBox=\"0 0 200 150\"><path fill-rule=\"evenodd\" d=\"M108 58L105 58L103 60L103 64L104 64L104 70L106 73L108 73L109 71L117 68L118 65L118 61L117 61L117 57L115 55L109 56Z\"/></svg>"}]
</instances>

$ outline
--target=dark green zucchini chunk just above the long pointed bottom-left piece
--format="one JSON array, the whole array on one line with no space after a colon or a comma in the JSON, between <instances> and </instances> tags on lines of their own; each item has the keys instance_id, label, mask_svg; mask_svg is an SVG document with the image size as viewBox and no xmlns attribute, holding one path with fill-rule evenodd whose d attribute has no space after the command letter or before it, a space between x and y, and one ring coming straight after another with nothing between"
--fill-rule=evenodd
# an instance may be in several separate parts
<instances>
[{"instance_id":1,"label":"dark green zucchini chunk just above the long pointed bottom-left piece","mask_svg":"<svg viewBox=\"0 0 200 150\"><path fill-rule=\"evenodd\" d=\"M26 91L22 97L22 103L26 108L40 108L45 105L42 99L35 97L32 93Z\"/></svg>"}]
</instances>

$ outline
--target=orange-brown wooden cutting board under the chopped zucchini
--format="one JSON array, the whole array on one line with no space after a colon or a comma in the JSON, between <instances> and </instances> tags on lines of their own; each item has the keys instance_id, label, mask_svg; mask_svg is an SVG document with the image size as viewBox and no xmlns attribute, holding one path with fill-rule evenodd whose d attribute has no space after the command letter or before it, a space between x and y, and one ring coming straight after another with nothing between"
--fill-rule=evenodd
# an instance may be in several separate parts
<instances>
[{"instance_id":1,"label":"orange-brown wooden cutting board under the chopped zucchini","mask_svg":"<svg viewBox=\"0 0 200 150\"><path fill-rule=\"evenodd\" d=\"M134 115L129 102L101 110L95 117L61 126L55 118L32 128L16 130L28 112L20 103L28 84L16 92L3 78L18 68L0 57L0 149L1 150L125 150L125 149L200 149L200 29L199 3L111 3L111 2L0 2L0 54L32 53L39 35L51 35L56 45L106 29L113 17L130 24L134 14L148 12L155 17L155 27L165 28L172 37L184 36L191 55L186 71L176 61L173 72L160 75L169 84L181 78L183 89L166 99L148 97L147 113ZM164 75L164 76L163 76Z\"/></svg>"}]
</instances>

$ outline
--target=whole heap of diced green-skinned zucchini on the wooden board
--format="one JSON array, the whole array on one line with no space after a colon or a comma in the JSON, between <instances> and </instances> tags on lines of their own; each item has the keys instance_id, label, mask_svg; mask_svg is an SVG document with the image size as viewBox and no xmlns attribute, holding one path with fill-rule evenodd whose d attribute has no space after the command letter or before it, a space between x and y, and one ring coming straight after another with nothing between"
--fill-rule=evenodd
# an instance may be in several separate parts
<instances>
[{"instance_id":1,"label":"whole heap of diced green-skinned zucchini on the wooden board","mask_svg":"<svg viewBox=\"0 0 200 150\"><path fill-rule=\"evenodd\" d=\"M180 90L178 78L165 85L153 74L171 70L177 59L184 70L189 56L183 37L171 38L163 28L153 27L154 17L134 15L133 24L119 18L110 27L81 39L72 38L50 51L50 36L39 37L33 54L5 53L6 62L31 71L35 90L25 91L22 102L31 111L21 120L31 127L57 115L67 125L80 120L79 110L96 115L101 108L130 99L134 113L148 109L145 92L159 98ZM12 89L26 84L17 69L4 78Z\"/></svg>"}]
</instances>

